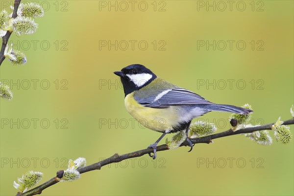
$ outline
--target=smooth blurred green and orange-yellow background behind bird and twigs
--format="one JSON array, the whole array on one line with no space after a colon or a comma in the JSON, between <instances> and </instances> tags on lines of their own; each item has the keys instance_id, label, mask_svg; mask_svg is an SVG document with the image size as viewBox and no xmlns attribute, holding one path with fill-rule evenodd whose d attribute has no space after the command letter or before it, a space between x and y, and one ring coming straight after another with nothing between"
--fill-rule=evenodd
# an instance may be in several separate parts
<instances>
[{"instance_id":1,"label":"smooth blurred green and orange-yellow background behind bird and twigs","mask_svg":"<svg viewBox=\"0 0 294 196\"><path fill-rule=\"evenodd\" d=\"M12 3L1 0L1 9L10 10ZM160 136L132 124L125 110L113 72L130 64L146 65L212 102L248 102L254 124L291 118L291 0L233 1L231 8L226 1L193 0L39 3L46 12L36 19L37 32L10 38L27 63L17 67L6 59L0 68L1 81L14 94L11 101L0 100L1 196L15 195L13 181L27 171L44 172L43 183L65 169L69 158L85 157L90 165L116 152L145 148ZM215 50L199 45L214 40ZM114 44L110 49L108 41ZM228 116L211 112L200 118L217 123L219 132L229 128ZM290 196L293 144L273 140L262 146L242 135L225 137L196 145L190 153L181 147L158 152L155 161L146 155L105 166L42 195Z\"/></svg>"}]
</instances>

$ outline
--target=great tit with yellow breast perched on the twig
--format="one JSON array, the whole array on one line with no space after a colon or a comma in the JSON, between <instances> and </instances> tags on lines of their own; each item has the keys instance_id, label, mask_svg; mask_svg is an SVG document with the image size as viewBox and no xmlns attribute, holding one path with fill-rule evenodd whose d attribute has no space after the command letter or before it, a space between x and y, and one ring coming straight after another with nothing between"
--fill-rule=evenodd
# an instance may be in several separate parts
<instances>
[{"instance_id":1,"label":"great tit with yellow breast perched on the twig","mask_svg":"<svg viewBox=\"0 0 294 196\"><path fill-rule=\"evenodd\" d=\"M192 91L158 78L140 64L129 65L114 73L121 77L127 111L147 128L163 133L148 147L153 148L153 159L156 158L157 144L167 133L184 129L191 151L193 144L188 138L188 130L191 121L198 116L210 111L244 115L253 112L242 107L210 102Z\"/></svg>"}]
</instances>

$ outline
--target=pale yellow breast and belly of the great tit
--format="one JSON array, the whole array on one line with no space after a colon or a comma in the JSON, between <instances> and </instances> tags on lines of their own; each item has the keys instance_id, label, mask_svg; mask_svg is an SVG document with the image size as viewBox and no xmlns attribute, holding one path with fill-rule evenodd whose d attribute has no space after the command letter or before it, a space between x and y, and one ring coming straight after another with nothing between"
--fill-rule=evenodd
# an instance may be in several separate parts
<instances>
[{"instance_id":1,"label":"pale yellow breast and belly of the great tit","mask_svg":"<svg viewBox=\"0 0 294 196\"><path fill-rule=\"evenodd\" d=\"M150 108L137 103L133 93L124 98L124 105L127 111L142 125L154 131L164 132L172 130L178 124L177 107Z\"/></svg>"}]
</instances>

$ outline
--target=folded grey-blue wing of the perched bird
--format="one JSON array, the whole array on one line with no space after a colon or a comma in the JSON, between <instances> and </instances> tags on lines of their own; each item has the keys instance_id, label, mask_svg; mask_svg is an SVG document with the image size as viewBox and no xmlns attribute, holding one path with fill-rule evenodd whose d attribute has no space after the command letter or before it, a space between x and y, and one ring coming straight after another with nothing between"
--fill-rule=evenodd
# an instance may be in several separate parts
<instances>
[{"instance_id":1,"label":"folded grey-blue wing of the perched bird","mask_svg":"<svg viewBox=\"0 0 294 196\"><path fill-rule=\"evenodd\" d=\"M171 105L215 104L183 88L175 87L155 97L153 100L141 100L142 105L153 108L166 108Z\"/></svg>"}]
</instances>

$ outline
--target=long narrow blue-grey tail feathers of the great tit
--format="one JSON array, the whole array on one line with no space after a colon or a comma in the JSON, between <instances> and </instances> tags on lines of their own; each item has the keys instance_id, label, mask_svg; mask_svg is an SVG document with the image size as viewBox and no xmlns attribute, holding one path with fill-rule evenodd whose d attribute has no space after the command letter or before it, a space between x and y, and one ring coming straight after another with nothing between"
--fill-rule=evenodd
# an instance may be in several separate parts
<instances>
[{"instance_id":1,"label":"long narrow blue-grey tail feathers of the great tit","mask_svg":"<svg viewBox=\"0 0 294 196\"><path fill-rule=\"evenodd\" d=\"M225 104L212 104L206 105L205 109L210 111L219 111L219 112L233 112L236 114L249 114L253 112L253 110L246 109L243 107L237 107L234 105L225 105Z\"/></svg>"}]
</instances>

